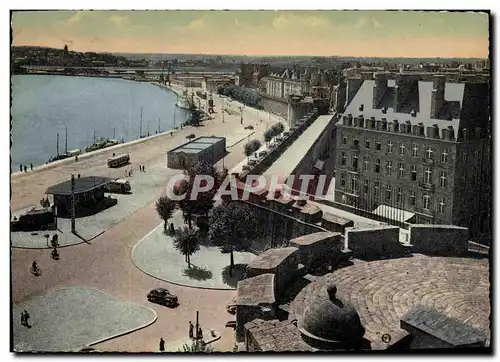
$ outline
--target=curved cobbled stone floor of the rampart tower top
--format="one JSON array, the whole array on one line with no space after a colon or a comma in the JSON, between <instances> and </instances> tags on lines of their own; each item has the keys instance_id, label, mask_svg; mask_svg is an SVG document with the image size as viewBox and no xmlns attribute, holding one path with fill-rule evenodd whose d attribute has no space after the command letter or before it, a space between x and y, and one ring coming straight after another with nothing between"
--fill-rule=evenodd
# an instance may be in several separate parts
<instances>
[{"instance_id":1,"label":"curved cobbled stone floor of the rampart tower top","mask_svg":"<svg viewBox=\"0 0 500 362\"><path fill-rule=\"evenodd\" d=\"M335 283L358 311L365 337L399 335L400 318L413 306L443 312L490 335L490 284L486 259L413 257L360 262L316 279L290 305L290 319L304 311L325 284Z\"/></svg>"}]
</instances>

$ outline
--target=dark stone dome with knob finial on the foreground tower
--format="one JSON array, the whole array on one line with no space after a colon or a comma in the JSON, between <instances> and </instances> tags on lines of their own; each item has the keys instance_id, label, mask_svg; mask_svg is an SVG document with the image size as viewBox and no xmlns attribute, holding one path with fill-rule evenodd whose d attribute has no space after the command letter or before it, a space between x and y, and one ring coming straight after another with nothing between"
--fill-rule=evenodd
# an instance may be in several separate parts
<instances>
[{"instance_id":1,"label":"dark stone dome with knob finial on the foreground tower","mask_svg":"<svg viewBox=\"0 0 500 362\"><path fill-rule=\"evenodd\" d=\"M299 329L309 344L319 342L322 349L356 344L365 334L358 313L335 285L321 289L299 319Z\"/></svg>"}]
</instances>

